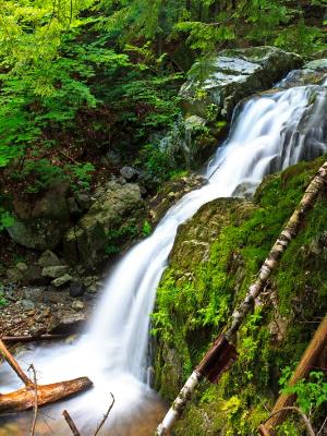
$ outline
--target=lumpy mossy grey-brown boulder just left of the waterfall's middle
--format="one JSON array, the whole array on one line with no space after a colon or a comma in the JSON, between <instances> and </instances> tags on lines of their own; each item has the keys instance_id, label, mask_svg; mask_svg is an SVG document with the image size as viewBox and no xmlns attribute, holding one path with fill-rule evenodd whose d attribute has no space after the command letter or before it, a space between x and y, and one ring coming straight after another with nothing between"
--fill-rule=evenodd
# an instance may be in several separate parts
<instances>
[{"instance_id":1,"label":"lumpy mossy grey-brown boulder just left of the waterfall's middle","mask_svg":"<svg viewBox=\"0 0 327 436\"><path fill-rule=\"evenodd\" d=\"M88 213L64 235L63 255L71 265L101 263L110 234L120 234L123 244L123 239L131 235L129 229L134 229L145 209L140 186L134 183L111 181L97 190L95 197Z\"/></svg>"}]
</instances>

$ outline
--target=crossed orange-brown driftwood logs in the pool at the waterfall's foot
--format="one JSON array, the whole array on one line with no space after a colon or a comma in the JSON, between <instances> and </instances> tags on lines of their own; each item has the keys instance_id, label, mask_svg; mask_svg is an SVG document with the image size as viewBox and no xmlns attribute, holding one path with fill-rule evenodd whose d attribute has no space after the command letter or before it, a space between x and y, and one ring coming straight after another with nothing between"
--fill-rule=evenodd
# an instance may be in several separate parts
<instances>
[{"instance_id":1,"label":"crossed orange-brown driftwood logs in the pool at the waterfall's foot","mask_svg":"<svg viewBox=\"0 0 327 436\"><path fill-rule=\"evenodd\" d=\"M78 393L93 386L87 377L80 377L73 380L53 383L50 385L38 385L32 382L9 352L2 340L0 340L0 353L9 365L17 374L25 387L11 393L0 393L0 414L22 412L37 405L48 404ZM37 401L36 401L37 392Z\"/></svg>"}]
</instances>

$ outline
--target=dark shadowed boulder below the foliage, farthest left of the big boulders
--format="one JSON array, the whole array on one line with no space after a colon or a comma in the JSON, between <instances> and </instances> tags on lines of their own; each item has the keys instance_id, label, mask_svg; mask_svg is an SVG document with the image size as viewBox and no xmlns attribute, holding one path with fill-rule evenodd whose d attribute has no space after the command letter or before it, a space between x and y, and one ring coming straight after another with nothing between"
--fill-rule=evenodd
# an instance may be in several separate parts
<instances>
[{"instance_id":1,"label":"dark shadowed boulder below the foliage, farthest left of the big boulders","mask_svg":"<svg viewBox=\"0 0 327 436\"><path fill-rule=\"evenodd\" d=\"M15 198L10 237L27 249L45 251L58 246L70 226L68 192L69 184L60 183L36 199Z\"/></svg>"}]
</instances>

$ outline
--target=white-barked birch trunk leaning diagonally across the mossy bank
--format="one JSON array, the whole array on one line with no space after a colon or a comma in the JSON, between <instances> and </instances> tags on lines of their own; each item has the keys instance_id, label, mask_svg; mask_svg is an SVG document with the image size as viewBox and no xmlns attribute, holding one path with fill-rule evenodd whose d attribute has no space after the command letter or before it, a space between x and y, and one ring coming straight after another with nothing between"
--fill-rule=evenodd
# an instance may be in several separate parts
<instances>
[{"instance_id":1,"label":"white-barked birch trunk leaning diagonally across the mossy bank","mask_svg":"<svg viewBox=\"0 0 327 436\"><path fill-rule=\"evenodd\" d=\"M276 243L274 244L268 257L264 262L257 279L250 286L247 294L244 301L241 303L238 310L232 314L230 327L225 332L227 341L231 341L234 335L238 332L246 315L252 312L255 299L261 294L265 288L268 278L271 272L276 269L283 252L299 233L300 227L303 223L307 213L313 208L318 194L327 185L327 161L319 168L315 178L311 181L310 185L304 192L304 195L294 210L293 215L289 219L287 226L281 231ZM231 343L230 343L231 346ZM211 354L211 349L207 352L204 361ZM187 401L191 399L196 386L199 384L205 374L202 374L198 370L194 371L186 384L180 391L179 396L172 403L170 410L166 414L161 424L159 424L156 436L169 435L177 420L181 416Z\"/></svg>"}]
</instances>

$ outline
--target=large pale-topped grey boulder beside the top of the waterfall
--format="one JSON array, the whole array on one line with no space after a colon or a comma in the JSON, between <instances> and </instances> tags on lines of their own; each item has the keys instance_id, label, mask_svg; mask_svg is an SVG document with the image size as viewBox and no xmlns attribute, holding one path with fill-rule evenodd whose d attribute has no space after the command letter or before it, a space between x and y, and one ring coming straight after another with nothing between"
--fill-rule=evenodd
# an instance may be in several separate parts
<instances>
[{"instance_id":1,"label":"large pale-topped grey boulder beside the top of the waterfall","mask_svg":"<svg viewBox=\"0 0 327 436\"><path fill-rule=\"evenodd\" d=\"M299 68L298 55L275 47L230 49L197 61L189 72L180 96L186 113L206 119L230 119L235 105L267 89L290 70Z\"/></svg>"}]
</instances>

